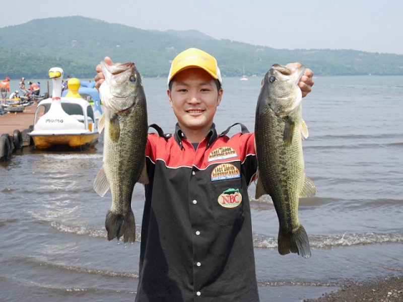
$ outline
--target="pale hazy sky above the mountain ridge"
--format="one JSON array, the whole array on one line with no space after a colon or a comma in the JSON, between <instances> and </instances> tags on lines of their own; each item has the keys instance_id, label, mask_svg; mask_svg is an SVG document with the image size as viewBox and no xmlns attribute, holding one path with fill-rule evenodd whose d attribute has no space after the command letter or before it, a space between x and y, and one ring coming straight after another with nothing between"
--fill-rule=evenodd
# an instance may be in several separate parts
<instances>
[{"instance_id":1,"label":"pale hazy sky above the mountain ridge","mask_svg":"<svg viewBox=\"0 0 403 302\"><path fill-rule=\"evenodd\" d=\"M0 6L0 28L78 15L274 48L403 54L402 0L9 0Z\"/></svg>"}]
</instances>

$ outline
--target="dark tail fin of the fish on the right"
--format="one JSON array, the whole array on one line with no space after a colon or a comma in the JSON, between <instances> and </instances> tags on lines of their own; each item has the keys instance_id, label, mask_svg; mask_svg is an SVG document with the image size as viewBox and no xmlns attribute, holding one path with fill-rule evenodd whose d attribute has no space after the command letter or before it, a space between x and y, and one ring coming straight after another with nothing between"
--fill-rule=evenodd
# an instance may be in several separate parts
<instances>
[{"instance_id":1,"label":"dark tail fin of the fish on the right","mask_svg":"<svg viewBox=\"0 0 403 302\"><path fill-rule=\"evenodd\" d=\"M280 230L278 243L280 255L287 255L291 252L304 258L311 257L308 235L302 225L291 234L283 234Z\"/></svg>"}]
</instances>

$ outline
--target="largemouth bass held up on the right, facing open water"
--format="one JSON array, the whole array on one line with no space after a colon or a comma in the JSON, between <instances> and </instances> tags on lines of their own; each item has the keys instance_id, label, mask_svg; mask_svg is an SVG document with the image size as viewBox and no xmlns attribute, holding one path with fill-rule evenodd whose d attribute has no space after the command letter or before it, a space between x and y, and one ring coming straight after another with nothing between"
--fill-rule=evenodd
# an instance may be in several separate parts
<instances>
[{"instance_id":1,"label":"largemouth bass held up on the right, facing open water","mask_svg":"<svg viewBox=\"0 0 403 302\"><path fill-rule=\"evenodd\" d=\"M270 194L280 222L281 255L311 256L308 235L298 220L300 197L316 194L305 175L302 138L308 136L302 120L302 93L297 86L305 67L289 69L274 64L265 74L255 117L258 180L256 198Z\"/></svg>"}]
</instances>

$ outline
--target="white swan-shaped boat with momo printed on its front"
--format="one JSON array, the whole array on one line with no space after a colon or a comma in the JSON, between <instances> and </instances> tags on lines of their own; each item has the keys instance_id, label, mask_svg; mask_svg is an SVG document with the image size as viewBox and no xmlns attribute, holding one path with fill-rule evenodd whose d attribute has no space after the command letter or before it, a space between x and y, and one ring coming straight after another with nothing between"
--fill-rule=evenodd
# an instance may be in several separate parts
<instances>
[{"instance_id":1,"label":"white swan-shaped boat with momo printed on its front","mask_svg":"<svg viewBox=\"0 0 403 302\"><path fill-rule=\"evenodd\" d=\"M98 117L91 104L83 98L61 97L63 70L49 70L52 98L42 100L35 111L34 129L29 133L35 147L85 147L98 140Z\"/></svg>"}]
</instances>

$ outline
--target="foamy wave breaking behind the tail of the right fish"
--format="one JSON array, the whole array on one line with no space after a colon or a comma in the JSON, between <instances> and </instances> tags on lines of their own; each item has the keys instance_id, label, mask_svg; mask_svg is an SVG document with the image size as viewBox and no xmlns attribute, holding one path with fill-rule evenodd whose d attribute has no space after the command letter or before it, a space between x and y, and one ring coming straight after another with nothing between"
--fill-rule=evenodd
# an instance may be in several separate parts
<instances>
[{"instance_id":1,"label":"foamy wave breaking behind the tail of the right fish","mask_svg":"<svg viewBox=\"0 0 403 302\"><path fill-rule=\"evenodd\" d=\"M403 242L403 234L348 234L331 235L331 236L309 236L309 244L311 248L328 249L334 247L349 247L358 245L370 245L379 243L396 243ZM254 236L253 246L255 248L274 249L278 247L277 237Z\"/></svg>"}]
</instances>

